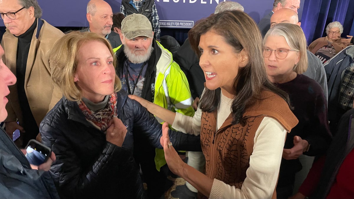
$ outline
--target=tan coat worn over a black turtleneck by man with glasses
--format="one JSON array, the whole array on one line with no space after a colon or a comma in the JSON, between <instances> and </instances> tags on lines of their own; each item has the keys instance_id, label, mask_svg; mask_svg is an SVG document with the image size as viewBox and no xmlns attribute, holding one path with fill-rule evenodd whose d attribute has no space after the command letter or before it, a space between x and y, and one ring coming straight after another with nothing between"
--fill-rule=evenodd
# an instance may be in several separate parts
<instances>
[{"instance_id":1,"label":"tan coat worn over a black turtleneck by man with glasses","mask_svg":"<svg viewBox=\"0 0 354 199\"><path fill-rule=\"evenodd\" d=\"M51 79L49 50L64 33L43 19L35 20L38 21L28 52L24 89L34 119L39 126L48 110L51 110L62 98L61 89ZM1 41L5 51L3 61L15 76L17 42L18 39L6 29ZM6 105L8 116L5 121L16 121L18 119L21 125L23 118L18 102L17 85L9 86L9 89L10 95L7 97L8 103Z\"/></svg>"}]
</instances>

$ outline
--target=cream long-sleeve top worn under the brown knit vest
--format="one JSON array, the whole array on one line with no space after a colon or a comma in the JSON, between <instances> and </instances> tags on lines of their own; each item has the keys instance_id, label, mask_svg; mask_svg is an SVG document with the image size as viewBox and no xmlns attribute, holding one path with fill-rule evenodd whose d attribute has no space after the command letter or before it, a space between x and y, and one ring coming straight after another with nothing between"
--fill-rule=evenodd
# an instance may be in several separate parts
<instances>
[{"instance_id":1,"label":"cream long-sleeve top worn under the brown knit vest","mask_svg":"<svg viewBox=\"0 0 354 199\"><path fill-rule=\"evenodd\" d=\"M231 103L232 99L221 95L221 104L217 111L217 129L231 113ZM198 108L193 117L176 113L172 128L199 135L200 125L201 110ZM285 136L286 130L278 121L264 117L255 134L250 167L246 171L242 188L238 189L214 179L210 198L272 198L278 180Z\"/></svg>"}]
</instances>

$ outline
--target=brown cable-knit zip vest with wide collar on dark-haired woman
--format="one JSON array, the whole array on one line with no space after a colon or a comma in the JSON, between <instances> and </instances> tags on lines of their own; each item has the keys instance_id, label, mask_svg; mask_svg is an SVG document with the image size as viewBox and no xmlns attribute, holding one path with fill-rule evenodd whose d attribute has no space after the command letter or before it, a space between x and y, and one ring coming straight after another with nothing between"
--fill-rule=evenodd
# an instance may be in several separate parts
<instances>
[{"instance_id":1,"label":"brown cable-knit zip vest with wide collar on dark-haired woman","mask_svg":"<svg viewBox=\"0 0 354 199\"><path fill-rule=\"evenodd\" d=\"M202 112L200 141L206 160L206 175L241 188L250 166L255 133L265 116L277 120L287 132L298 120L288 104L279 95L262 91L258 98L250 99L242 120L232 125L232 114L216 131L217 110ZM269 143L269 147L272 143Z\"/></svg>"}]
</instances>

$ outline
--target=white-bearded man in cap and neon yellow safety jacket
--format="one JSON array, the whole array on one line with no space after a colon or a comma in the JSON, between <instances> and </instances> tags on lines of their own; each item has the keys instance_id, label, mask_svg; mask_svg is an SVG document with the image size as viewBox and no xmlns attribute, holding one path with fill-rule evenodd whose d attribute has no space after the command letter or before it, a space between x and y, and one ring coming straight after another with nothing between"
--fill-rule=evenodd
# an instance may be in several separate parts
<instances>
[{"instance_id":1,"label":"white-bearded man in cap and neon yellow safety jacket","mask_svg":"<svg viewBox=\"0 0 354 199\"><path fill-rule=\"evenodd\" d=\"M136 13L126 16L122 21L120 39L123 45L113 51L122 89L166 109L193 116L193 98L187 78L173 61L171 52L154 39L149 19ZM166 164L164 151L155 151L139 139L134 142L139 147L134 150L134 158L141 165L148 197L159 198L165 191L166 175L160 172Z\"/></svg>"}]
</instances>

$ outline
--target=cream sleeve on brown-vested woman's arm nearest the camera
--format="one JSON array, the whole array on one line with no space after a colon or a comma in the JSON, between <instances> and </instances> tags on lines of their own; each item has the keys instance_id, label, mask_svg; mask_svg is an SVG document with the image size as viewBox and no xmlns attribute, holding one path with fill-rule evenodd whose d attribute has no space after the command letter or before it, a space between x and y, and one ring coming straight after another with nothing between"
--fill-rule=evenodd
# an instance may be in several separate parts
<instances>
[{"instance_id":1,"label":"cream sleeve on brown-vested woman's arm nearest the camera","mask_svg":"<svg viewBox=\"0 0 354 199\"><path fill-rule=\"evenodd\" d=\"M286 130L273 118L264 117L254 138L250 167L241 189L214 179L210 198L272 198L278 180Z\"/></svg>"}]
</instances>

